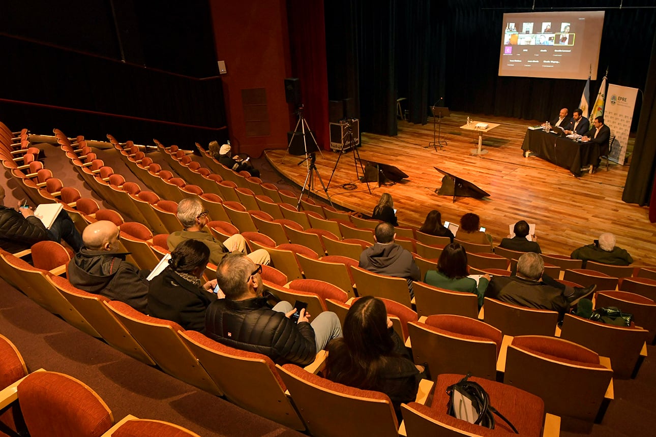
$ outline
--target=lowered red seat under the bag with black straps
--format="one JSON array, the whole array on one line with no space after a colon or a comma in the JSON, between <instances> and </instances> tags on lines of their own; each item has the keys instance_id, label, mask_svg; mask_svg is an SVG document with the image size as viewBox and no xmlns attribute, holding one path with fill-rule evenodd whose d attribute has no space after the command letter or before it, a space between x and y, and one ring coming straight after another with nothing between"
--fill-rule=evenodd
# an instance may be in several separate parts
<instances>
[{"instance_id":1,"label":"lowered red seat under the bag with black straps","mask_svg":"<svg viewBox=\"0 0 656 437\"><path fill-rule=\"evenodd\" d=\"M408 404L409 408L415 409L419 413L436 419L445 425L471 432L477 436L505 436L508 433L514 434L512 429L496 416L495 429L491 430L447 415L449 396L446 393L446 389L449 385L457 383L463 377L464 375L454 375L452 373L439 375L433 390L434 396L430 407L417 404L416 402L410 402ZM542 435L544 402L538 396L517 389L516 387L483 378L470 377L468 381L474 381L483 387L489 395L490 405L499 410L517 428L520 435L534 437ZM403 410L403 418L408 425L406 413L407 411Z\"/></svg>"}]
</instances>

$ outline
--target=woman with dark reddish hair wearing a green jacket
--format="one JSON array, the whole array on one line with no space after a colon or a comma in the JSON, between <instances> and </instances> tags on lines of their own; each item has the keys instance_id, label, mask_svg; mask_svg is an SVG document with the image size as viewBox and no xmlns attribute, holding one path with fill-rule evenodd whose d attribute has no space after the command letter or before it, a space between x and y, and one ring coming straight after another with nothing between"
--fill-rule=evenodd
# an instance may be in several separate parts
<instances>
[{"instance_id":1,"label":"woman with dark reddish hair wearing a green jacket","mask_svg":"<svg viewBox=\"0 0 656 437\"><path fill-rule=\"evenodd\" d=\"M469 278L467 269L467 251L461 244L447 245L438 259L438 269L429 270L424 276L424 282L434 287L453 290L454 292L470 292L478 295L478 307L483 306L483 296L489 284L490 276L483 275L478 284L474 278Z\"/></svg>"}]
</instances>

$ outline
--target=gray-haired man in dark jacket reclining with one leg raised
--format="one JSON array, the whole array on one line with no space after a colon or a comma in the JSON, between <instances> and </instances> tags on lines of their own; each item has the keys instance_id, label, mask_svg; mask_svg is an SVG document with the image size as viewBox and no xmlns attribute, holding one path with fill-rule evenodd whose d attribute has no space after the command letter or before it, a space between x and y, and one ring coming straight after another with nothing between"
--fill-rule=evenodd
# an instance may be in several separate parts
<instances>
[{"instance_id":1,"label":"gray-haired man in dark jacket reclining with one leg raised","mask_svg":"<svg viewBox=\"0 0 656 437\"><path fill-rule=\"evenodd\" d=\"M558 311L562 319L569 307L595 289L596 285L587 288L565 286L544 275L542 257L528 252L520 256L515 276L493 276L485 290L485 297L520 307Z\"/></svg>"}]
</instances>

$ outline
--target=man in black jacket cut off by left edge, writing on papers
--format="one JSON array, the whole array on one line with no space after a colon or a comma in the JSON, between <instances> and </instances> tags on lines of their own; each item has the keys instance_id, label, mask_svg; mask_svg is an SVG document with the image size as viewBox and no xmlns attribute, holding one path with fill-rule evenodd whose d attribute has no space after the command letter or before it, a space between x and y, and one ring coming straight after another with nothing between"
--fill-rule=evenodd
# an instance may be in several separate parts
<instances>
[{"instance_id":1,"label":"man in black jacket cut off by left edge, writing on papers","mask_svg":"<svg viewBox=\"0 0 656 437\"><path fill-rule=\"evenodd\" d=\"M60 242L62 238L77 252L82 247L82 237L72 219L62 210L51 229L47 229L41 219L34 216L29 206L14 208L5 205L5 189L0 185L0 247L7 252L20 252L29 249L39 241Z\"/></svg>"}]
</instances>

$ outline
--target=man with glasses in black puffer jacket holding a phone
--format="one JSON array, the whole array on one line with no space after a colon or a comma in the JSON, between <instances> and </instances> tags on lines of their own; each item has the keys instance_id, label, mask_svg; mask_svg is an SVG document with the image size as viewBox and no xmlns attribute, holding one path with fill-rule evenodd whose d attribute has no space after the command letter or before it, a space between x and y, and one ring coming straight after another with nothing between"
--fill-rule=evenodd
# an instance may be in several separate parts
<instances>
[{"instance_id":1,"label":"man with glasses in black puffer jacket holding a phone","mask_svg":"<svg viewBox=\"0 0 656 437\"><path fill-rule=\"evenodd\" d=\"M261 271L262 266L244 254L223 257L216 280L226 297L207 307L205 333L224 345L269 356L277 364L307 366L328 341L342 336L337 314L324 311L310 324L304 309L298 323L291 320L295 310L289 302L271 309L262 297Z\"/></svg>"}]
</instances>

